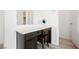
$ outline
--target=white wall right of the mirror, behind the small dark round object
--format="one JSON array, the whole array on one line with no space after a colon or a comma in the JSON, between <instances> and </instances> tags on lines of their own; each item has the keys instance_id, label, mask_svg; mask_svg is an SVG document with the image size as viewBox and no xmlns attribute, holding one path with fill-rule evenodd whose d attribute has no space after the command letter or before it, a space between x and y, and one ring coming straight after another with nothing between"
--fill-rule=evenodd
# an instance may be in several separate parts
<instances>
[{"instance_id":1,"label":"white wall right of the mirror, behind the small dark round object","mask_svg":"<svg viewBox=\"0 0 79 59\"><path fill-rule=\"evenodd\" d=\"M54 10L38 10L33 11L34 24L42 24L45 19L48 25L52 25L52 44L59 45L59 26L58 26L58 11Z\"/></svg>"}]
</instances>

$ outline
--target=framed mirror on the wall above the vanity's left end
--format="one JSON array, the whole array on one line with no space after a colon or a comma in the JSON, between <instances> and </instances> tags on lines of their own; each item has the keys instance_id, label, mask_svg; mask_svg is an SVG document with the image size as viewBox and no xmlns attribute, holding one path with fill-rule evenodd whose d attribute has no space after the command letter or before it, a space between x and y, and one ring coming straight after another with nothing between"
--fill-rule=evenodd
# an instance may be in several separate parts
<instances>
[{"instance_id":1,"label":"framed mirror on the wall above the vanity's left end","mask_svg":"<svg viewBox=\"0 0 79 59\"><path fill-rule=\"evenodd\" d=\"M17 25L33 24L32 10L17 10Z\"/></svg>"}]
</instances>

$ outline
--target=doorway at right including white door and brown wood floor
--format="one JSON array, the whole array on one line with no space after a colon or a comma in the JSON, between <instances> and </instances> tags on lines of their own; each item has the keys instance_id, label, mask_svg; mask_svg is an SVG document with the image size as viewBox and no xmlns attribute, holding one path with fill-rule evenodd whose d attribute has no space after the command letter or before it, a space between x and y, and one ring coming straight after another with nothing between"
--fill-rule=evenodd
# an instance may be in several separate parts
<instances>
[{"instance_id":1,"label":"doorway at right including white door and brown wood floor","mask_svg":"<svg viewBox=\"0 0 79 59\"><path fill-rule=\"evenodd\" d=\"M74 11L59 10L59 45L62 48L76 48L72 43L72 21L74 19Z\"/></svg>"}]
</instances>

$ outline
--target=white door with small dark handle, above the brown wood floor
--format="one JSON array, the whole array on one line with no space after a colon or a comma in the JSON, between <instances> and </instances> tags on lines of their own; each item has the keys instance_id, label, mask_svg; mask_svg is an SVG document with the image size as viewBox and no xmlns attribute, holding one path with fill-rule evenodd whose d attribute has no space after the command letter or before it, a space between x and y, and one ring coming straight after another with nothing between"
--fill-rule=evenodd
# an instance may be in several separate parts
<instances>
[{"instance_id":1,"label":"white door with small dark handle, above the brown wood floor","mask_svg":"<svg viewBox=\"0 0 79 59\"><path fill-rule=\"evenodd\" d=\"M59 11L59 36L65 39L71 39L72 17L71 11Z\"/></svg>"}]
</instances>

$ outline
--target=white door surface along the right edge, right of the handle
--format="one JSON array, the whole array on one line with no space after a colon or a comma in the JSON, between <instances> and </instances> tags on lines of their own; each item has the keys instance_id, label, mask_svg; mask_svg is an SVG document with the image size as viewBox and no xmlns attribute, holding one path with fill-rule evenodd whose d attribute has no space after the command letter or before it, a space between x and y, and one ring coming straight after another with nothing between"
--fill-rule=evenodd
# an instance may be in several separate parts
<instances>
[{"instance_id":1,"label":"white door surface along the right edge, right of the handle","mask_svg":"<svg viewBox=\"0 0 79 59\"><path fill-rule=\"evenodd\" d=\"M79 41L79 10L74 11L72 21L72 39Z\"/></svg>"}]
</instances>

